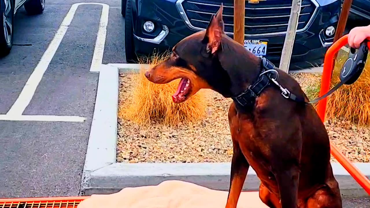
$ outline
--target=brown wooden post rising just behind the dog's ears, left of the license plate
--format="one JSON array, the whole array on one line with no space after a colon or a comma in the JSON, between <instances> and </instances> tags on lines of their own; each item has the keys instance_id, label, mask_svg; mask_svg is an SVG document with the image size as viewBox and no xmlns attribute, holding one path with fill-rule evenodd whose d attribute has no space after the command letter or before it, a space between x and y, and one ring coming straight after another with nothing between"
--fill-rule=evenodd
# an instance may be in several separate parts
<instances>
[{"instance_id":1,"label":"brown wooden post rising just behind the dog's ears, left of the license plate","mask_svg":"<svg viewBox=\"0 0 370 208\"><path fill-rule=\"evenodd\" d=\"M234 0L234 40L244 46L245 0Z\"/></svg>"}]
</instances>

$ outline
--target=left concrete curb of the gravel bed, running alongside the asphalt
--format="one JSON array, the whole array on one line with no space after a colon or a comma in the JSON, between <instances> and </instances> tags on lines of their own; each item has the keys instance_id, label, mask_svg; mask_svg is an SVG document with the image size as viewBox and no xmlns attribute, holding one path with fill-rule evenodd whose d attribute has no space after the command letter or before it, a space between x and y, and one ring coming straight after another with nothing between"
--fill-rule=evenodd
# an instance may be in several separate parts
<instances>
[{"instance_id":1,"label":"left concrete curb of the gravel bed, running alongside the asphalt","mask_svg":"<svg viewBox=\"0 0 370 208\"><path fill-rule=\"evenodd\" d=\"M90 186L90 173L116 162L118 68L101 65L98 89L81 180L81 191Z\"/></svg>"}]
</instances>

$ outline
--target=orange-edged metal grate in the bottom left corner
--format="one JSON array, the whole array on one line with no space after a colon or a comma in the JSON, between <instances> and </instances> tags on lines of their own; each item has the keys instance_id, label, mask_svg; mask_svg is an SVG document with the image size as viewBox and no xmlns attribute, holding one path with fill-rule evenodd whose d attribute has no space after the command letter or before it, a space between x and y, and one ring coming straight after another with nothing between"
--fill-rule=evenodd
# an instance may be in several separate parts
<instances>
[{"instance_id":1,"label":"orange-edged metal grate in the bottom left corner","mask_svg":"<svg viewBox=\"0 0 370 208\"><path fill-rule=\"evenodd\" d=\"M87 197L0 199L0 208L77 208Z\"/></svg>"}]
</instances>

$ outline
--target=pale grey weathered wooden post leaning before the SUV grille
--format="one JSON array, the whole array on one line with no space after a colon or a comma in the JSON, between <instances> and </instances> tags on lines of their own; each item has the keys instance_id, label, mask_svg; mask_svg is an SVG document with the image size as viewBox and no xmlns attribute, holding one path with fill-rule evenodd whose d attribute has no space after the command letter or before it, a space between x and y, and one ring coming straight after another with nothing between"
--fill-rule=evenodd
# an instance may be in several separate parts
<instances>
[{"instance_id":1,"label":"pale grey weathered wooden post leaning before the SUV grille","mask_svg":"<svg viewBox=\"0 0 370 208\"><path fill-rule=\"evenodd\" d=\"M279 68L286 73L289 71L290 58L292 57L293 44L296 37L296 30L298 27L299 14L301 10L302 0L293 0L292 9L290 10L290 17L288 28L286 31L283 51L280 58Z\"/></svg>"}]
</instances>

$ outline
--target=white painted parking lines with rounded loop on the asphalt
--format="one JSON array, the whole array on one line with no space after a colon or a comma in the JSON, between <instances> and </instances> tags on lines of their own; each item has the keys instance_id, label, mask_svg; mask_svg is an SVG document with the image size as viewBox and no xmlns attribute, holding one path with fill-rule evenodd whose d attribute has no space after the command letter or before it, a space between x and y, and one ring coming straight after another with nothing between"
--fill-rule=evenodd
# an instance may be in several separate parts
<instances>
[{"instance_id":1,"label":"white painted parking lines with rounded loop on the asphalt","mask_svg":"<svg viewBox=\"0 0 370 208\"><path fill-rule=\"evenodd\" d=\"M61 41L64 38L65 33L68 30L71 21L75 15L75 12L78 6L83 4L95 4L102 6L102 12L99 22L99 29L97 34L97 39L95 41L94 54L92 56L90 71L98 72L100 65L102 64L105 38L107 35L107 26L108 26L108 17L109 17L109 5L104 3L94 3L94 2L84 2L84 3L75 3L71 6L67 15L64 17L60 27L55 33L53 40L51 40L48 48L41 57L36 68L33 70L31 76L28 78L26 85L23 87L19 97L11 106L10 110L6 115L0 115L0 120L22 120L22 119L46 119L47 121L71 121L71 122L80 122L85 120L84 117L75 116L58 116L58 115L22 115L26 107L30 104L30 101L37 89L38 84L40 83L42 77L44 76L45 71L47 70L50 61L53 59L55 52L57 51Z\"/></svg>"}]
</instances>

